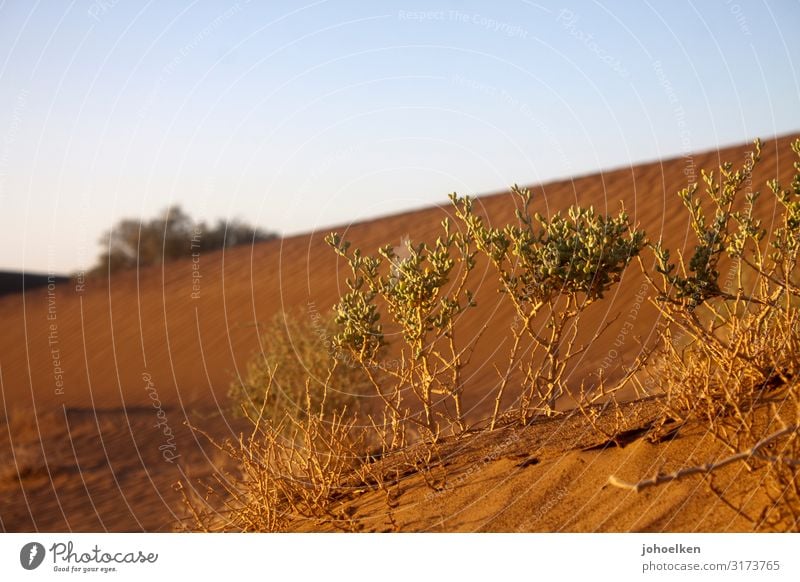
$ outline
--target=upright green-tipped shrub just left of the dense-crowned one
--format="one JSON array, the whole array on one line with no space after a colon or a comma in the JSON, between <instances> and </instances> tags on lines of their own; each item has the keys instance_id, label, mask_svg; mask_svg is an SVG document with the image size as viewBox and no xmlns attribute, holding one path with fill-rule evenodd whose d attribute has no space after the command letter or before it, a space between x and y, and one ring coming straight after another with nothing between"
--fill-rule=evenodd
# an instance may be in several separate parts
<instances>
[{"instance_id":1,"label":"upright green-tipped shrub just left of the dense-crowned one","mask_svg":"<svg viewBox=\"0 0 800 582\"><path fill-rule=\"evenodd\" d=\"M340 329L334 343L361 365L382 399L393 448L405 443L409 423L429 440L436 440L443 428L466 428L461 372L477 338L460 343L456 323L475 305L467 287L474 251L447 220L442 230L432 246L407 240L404 257L390 245L377 256L365 256L359 249L351 251L337 233L326 238L352 273L348 292L336 306ZM380 358L387 344L382 313L402 340L393 365Z\"/></svg>"}]
</instances>

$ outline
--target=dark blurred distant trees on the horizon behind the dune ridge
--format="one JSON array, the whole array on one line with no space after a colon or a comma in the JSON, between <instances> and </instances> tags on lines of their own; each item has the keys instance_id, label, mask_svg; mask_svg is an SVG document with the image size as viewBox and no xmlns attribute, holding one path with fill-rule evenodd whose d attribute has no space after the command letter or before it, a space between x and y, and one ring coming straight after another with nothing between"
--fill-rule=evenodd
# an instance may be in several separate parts
<instances>
[{"instance_id":1,"label":"dark blurred distant trees on the horizon behind the dune ridge","mask_svg":"<svg viewBox=\"0 0 800 582\"><path fill-rule=\"evenodd\" d=\"M192 252L214 251L275 238L240 220L218 220L210 227L195 222L180 206L171 206L149 220L123 219L103 234L104 251L93 274L157 265L186 258Z\"/></svg>"}]
</instances>

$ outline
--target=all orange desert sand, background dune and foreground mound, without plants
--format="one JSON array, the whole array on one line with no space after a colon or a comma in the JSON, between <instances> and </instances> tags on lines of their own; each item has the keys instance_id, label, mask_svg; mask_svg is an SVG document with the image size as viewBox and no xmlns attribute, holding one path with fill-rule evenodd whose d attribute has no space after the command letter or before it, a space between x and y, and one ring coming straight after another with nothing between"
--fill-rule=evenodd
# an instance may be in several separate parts
<instances>
[{"instance_id":1,"label":"all orange desert sand, background dune and foreground mound, without plants","mask_svg":"<svg viewBox=\"0 0 800 582\"><path fill-rule=\"evenodd\" d=\"M767 141L754 179L792 175L788 144ZM570 204L616 212L624 203L651 240L683 248L686 215L676 192L700 168L741 164L749 144L571 180L534 185L542 214ZM778 155L780 152L780 156ZM354 245L374 250L404 237L429 239L450 208L406 212L342 225ZM459 194L474 194L459 192ZM507 192L481 196L492 222L514 220ZM769 228L771 216L763 216ZM346 272L323 239L330 229L204 255L111 279L59 283L0 298L0 529L4 531L170 531L181 506L174 485L207 477L220 462L187 422L216 438L235 436L241 421L227 414L226 393L258 350L259 327L280 311L325 311ZM646 255L646 260L648 255ZM198 276L199 275L199 276ZM572 371L579 381L604 366L621 374L654 338L656 310L637 268L593 308L581 333L591 337L608 318L615 337L636 309L632 333L608 363L597 342ZM496 289L483 285L467 333L487 326L469 370L466 404L473 418L491 406L491 366L508 340L511 313ZM636 338L639 338L637 341ZM606 364L604 364L604 361ZM157 405L156 405L157 404ZM651 418L653 404L631 405L631 429ZM702 431L650 442L606 446L579 417L521 431L501 428L442 445L443 491L431 496L409 475L394 515L409 531L741 531L751 526L689 479L635 494L609 487L715 454ZM747 488L739 468L721 478ZM757 500L753 500L756 503ZM354 508L365 531L390 526L384 506L365 493ZM311 529L314 529L311 527Z\"/></svg>"}]
</instances>

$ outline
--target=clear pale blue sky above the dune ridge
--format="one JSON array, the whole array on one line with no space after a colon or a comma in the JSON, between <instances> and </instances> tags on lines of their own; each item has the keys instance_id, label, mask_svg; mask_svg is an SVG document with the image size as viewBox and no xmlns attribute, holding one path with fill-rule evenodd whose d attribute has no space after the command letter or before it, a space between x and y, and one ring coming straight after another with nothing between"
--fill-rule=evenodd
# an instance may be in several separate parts
<instances>
[{"instance_id":1,"label":"clear pale blue sky above the dune ridge","mask_svg":"<svg viewBox=\"0 0 800 582\"><path fill-rule=\"evenodd\" d=\"M173 203L293 234L800 129L800 3L0 5L0 269Z\"/></svg>"}]
</instances>

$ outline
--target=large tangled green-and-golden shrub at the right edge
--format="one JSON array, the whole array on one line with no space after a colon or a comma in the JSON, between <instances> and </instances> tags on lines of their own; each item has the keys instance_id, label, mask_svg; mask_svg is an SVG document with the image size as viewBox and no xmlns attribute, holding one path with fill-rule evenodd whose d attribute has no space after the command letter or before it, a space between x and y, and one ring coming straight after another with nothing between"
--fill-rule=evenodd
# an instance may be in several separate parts
<instances>
[{"instance_id":1,"label":"large tangled green-and-golden shrub at the right edge","mask_svg":"<svg viewBox=\"0 0 800 582\"><path fill-rule=\"evenodd\" d=\"M679 255L671 263L668 249L653 247L659 280L651 282L668 322L660 370L667 403L673 414L702 416L715 428L730 412L744 414L765 390L785 385L798 365L800 174L793 191L769 182L780 218L767 239L756 218L761 194L746 187L760 150L756 142L738 170L726 163L718 175L704 171L704 197L697 184L680 192L697 238L688 262ZM729 265L725 285L721 263Z\"/></svg>"}]
</instances>

